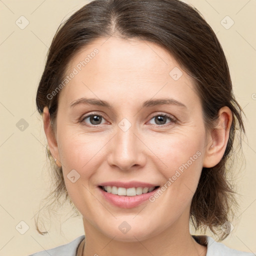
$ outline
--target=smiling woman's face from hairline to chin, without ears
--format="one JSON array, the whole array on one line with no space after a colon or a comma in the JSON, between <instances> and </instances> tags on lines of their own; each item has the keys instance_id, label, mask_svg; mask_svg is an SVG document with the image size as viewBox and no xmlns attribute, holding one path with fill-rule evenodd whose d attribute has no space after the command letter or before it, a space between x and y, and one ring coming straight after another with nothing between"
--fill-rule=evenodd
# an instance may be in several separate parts
<instances>
[{"instance_id":1,"label":"smiling woman's face from hairline to chin, without ears","mask_svg":"<svg viewBox=\"0 0 256 256\"><path fill-rule=\"evenodd\" d=\"M66 75L56 157L85 231L136 241L188 228L207 141L191 77L160 46L115 37L86 46Z\"/></svg>"}]
</instances>

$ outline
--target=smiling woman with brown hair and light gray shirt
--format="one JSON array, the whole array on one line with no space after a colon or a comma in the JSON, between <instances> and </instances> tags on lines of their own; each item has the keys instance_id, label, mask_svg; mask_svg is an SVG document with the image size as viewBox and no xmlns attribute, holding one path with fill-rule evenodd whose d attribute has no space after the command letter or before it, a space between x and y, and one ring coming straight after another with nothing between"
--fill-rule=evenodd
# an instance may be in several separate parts
<instances>
[{"instance_id":1,"label":"smiling woman with brown hair and light gray shirt","mask_svg":"<svg viewBox=\"0 0 256 256\"><path fill-rule=\"evenodd\" d=\"M95 0L60 26L39 82L56 198L85 236L32 255L252 255L226 247L244 132L223 50L179 0Z\"/></svg>"}]
</instances>

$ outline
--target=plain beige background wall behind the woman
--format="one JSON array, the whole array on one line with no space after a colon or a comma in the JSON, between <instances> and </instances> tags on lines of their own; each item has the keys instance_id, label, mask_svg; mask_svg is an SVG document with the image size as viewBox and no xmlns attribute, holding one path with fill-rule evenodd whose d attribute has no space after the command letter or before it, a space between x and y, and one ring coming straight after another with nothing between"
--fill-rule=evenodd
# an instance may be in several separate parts
<instances>
[{"instance_id":1,"label":"plain beige background wall behind the woman","mask_svg":"<svg viewBox=\"0 0 256 256\"><path fill-rule=\"evenodd\" d=\"M84 233L81 218L68 219L67 214L57 217L62 222L62 233L54 220L49 235L42 236L35 229L33 216L37 216L43 206L39 205L40 199L47 194L49 184L45 136L40 116L35 111L36 87L58 25L86 2L0 0L0 255L26 256L67 243ZM189 2L217 34L229 63L234 93L247 116L247 140L243 141L246 165L241 165L239 159L235 163L240 209L232 222L234 229L222 242L256 253L256 1ZM16 20L21 23L21 15L29 21L24 29L15 23ZM221 24L227 15L234 21L229 29ZM231 24L230 19L225 18L224 22L225 26ZM22 24L25 24L24 19ZM16 126L21 118L28 123L23 131ZM68 213L65 208L59 211ZM29 226L24 234L15 228L20 226L20 221ZM21 226L24 228L24 223L21 222Z\"/></svg>"}]
</instances>

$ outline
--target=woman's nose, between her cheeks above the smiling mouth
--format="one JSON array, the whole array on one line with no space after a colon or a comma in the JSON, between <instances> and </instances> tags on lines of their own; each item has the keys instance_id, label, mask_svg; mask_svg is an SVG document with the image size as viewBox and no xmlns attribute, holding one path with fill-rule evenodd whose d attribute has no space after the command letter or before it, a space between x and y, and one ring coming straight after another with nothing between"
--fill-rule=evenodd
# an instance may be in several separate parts
<instances>
[{"instance_id":1,"label":"woman's nose, between her cheeks above the smiling mouth","mask_svg":"<svg viewBox=\"0 0 256 256\"><path fill-rule=\"evenodd\" d=\"M145 146L133 126L123 131L117 127L115 136L109 141L108 164L121 170L131 170L145 165Z\"/></svg>"}]
</instances>

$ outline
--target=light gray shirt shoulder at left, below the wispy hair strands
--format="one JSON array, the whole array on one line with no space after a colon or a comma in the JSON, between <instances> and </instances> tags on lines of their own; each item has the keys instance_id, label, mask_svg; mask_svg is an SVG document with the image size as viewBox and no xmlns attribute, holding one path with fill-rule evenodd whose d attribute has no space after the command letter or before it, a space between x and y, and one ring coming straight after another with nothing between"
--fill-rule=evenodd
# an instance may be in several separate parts
<instances>
[{"instance_id":1,"label":"light gray shirt shoulder at left, below the wispy hair strands","mask_svg":"<svg viewBox=\"0 0 256 256\"><path fill-rule=\"evenodd\" d=\"M69 243L54 247L52 249L38 251L29 256L75 256L76 249L84 237L84 235L81 235Z\"/></svg>"}]
</instances>

